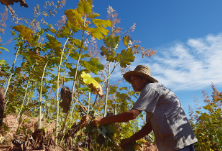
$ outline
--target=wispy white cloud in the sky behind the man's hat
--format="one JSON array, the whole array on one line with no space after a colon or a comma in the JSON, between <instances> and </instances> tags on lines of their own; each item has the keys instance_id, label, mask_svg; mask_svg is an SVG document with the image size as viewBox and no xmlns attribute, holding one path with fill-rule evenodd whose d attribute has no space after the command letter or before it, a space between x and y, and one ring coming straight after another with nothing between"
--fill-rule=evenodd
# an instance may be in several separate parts
<instances>
[{"instance_id":1,"label":"wispy white cloud in the sky behind the man's hat","mask_svg":"<svg viewBox=\"0 0 222 151\"><path fill-rule=\"evenodd\" d=\"M174 91L203 90L212 82L221 86L222 33L156 50L158 53L150 59L136 57L131 70L139 64L147 65L154 78Z\"/></svg>"}]
</instances>

